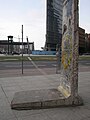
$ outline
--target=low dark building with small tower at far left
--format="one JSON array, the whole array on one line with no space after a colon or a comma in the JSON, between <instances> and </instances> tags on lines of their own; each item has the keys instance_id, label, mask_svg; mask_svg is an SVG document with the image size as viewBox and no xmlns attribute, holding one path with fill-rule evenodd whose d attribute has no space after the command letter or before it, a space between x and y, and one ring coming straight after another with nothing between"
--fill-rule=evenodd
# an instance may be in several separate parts
<instances>
[{"instance_id":1,"label":"low dark building with small tower at far left","mask_svg":"<svg viewBox=\"0 0 90 120\"><path fill-rule=\"evenodd\" d=\"M13 36L8 36L8 40L0 40L0 51L6 52L8 54L12 54L13 51L20 52L22 48L21 46L22 42L14 42ZM31 53L33 50L34 42L23 42L24 53Z\"/></svg>"}]
</instances>

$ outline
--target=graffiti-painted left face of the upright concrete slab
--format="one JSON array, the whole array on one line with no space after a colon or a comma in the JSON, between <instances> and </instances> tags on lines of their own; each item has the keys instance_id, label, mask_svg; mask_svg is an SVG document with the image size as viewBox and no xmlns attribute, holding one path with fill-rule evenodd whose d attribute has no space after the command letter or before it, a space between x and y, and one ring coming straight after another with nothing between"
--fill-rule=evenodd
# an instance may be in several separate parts
<instances>
[{"instance_id":1,"label":"graffiti-painted left face of the upright concrete slab","mask_svg":"<svg viewBox=\"0 0 90 120\"><path fill-rule=\"evenodd\" d=\"M69 93L72 75L72 0L64 0L61 86Z\"/></svg>"}]
</instances>

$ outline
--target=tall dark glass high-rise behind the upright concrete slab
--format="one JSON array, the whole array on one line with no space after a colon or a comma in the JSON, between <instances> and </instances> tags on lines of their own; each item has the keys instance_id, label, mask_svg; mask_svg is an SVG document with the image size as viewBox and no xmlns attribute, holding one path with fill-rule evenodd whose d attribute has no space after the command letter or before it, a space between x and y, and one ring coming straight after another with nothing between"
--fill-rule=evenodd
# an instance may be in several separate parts
<instances>
[{"instance_id":1,"label":"tall dark glass high-rise behind the upright concrete slab","mask_svg":"<svg viewBox=\"0 0 90 120\"><path fill-rule=\"evenodd\" d=\"M47 0L45 49L55 51L61 46L63 0Z\"/></svg>"}]
</instances>

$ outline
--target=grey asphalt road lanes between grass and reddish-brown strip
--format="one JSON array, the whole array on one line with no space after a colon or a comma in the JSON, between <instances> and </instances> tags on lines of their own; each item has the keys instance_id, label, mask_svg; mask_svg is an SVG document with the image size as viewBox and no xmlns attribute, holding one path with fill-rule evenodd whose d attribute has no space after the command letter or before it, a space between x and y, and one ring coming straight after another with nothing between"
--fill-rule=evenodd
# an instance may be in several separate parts
<instances>
[{"instance_id":1,"label":"grey asphalt road lanes between grass and reddish-brown strip","mask_svg":"<svg viewBox=\"0 0 90 120\"><path fill-rule=\"evenodd\" d=\"M38 68L53 68L57 66L56 61L34 61ZM21 69L22 62L0 62L0 70ZM33 69L35 66L31 61L23 62L24 69ZM79 61L79 67L90 67L90 61Z\"/></svg>"}]
</instances>

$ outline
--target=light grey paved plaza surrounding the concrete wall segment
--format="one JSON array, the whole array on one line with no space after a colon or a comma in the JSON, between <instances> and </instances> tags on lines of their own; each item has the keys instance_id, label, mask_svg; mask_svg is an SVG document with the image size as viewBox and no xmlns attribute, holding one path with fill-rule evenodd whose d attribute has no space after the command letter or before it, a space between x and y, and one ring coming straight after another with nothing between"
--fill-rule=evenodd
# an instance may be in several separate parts
<instances>
[{"instance_id":1,"label":"light grey paved plaza surrounding the concrete wall segment","mask_svg":"<svg viewBox=\"0 0 90 120\"><path fill-rule=\"evenodd\" d=\"M16 92L55 89L60 83L60 75L0 78L0 120L89 120L90 72L80 72L78 81L83 106L20 111L12 110L10 106Z\"/></svg>"}]
</instances>

